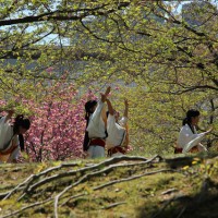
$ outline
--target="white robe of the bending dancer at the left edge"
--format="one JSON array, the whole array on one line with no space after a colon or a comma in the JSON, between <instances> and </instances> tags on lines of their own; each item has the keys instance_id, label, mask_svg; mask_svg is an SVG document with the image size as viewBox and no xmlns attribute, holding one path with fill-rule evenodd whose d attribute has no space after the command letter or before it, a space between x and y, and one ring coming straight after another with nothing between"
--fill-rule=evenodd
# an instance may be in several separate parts
<instances>
[{"instance_id":1,"label":"white robe of the bending dancer at the left edge","mask_svg":"<svg viewBox=\"0 0 218 218\"><path fill-rule=\"evenodd\" d=\"M20 155L19 146L19 135L13 135L13 126L5 122L5 118L0 119L0 152L7 152L12 146L12 141L17 145L17 147L9 155L0 154L0 164L1 162L11 162L13 159L17 159Z\"/></svg>"}]
</instances>

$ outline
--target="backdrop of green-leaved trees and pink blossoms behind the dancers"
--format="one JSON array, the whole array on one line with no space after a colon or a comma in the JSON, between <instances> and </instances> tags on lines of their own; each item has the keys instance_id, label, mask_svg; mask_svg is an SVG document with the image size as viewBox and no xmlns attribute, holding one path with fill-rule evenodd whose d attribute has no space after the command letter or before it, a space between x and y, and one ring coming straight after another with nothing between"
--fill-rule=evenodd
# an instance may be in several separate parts
<instances>
[{"instance_id":1,"label":"backdrop of green-leaved trees and pink blossoms behind the dancers","mask_svg":"<svg viewBox=\"0 0 218 218\"><path fill-rule=\"evenodd\" d=\"M32 120L25 158L82 158L84 104L108 85L130 104L130 154L172 154L191 108L216 152L217 15L217 1L1 0L0 104Z\"/></svg>"}]
</instances>

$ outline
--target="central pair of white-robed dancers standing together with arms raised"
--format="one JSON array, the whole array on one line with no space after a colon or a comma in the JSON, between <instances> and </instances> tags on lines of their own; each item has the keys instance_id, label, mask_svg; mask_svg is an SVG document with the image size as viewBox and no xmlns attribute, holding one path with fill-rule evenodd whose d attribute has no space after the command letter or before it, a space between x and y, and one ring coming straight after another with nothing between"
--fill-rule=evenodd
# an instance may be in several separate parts
<instances>
[{"instance_id":1,"label":"central pair of white-robed dancers standing together with arms raised","mask_svg":"<svg viewBox=\"0 0 218 218\"><path fill-rule=\"evenodd\" d=\"M114 110L108 95L110 87L98 101L89 100L85 104L86 110L86 133L83 148L90 158L121 156L126 153L129 144L128 132L128 100L124 100L124 114L120 119L120 113ZM105 109L105 102L108 110Z\"/></svg>"}]
</instances>

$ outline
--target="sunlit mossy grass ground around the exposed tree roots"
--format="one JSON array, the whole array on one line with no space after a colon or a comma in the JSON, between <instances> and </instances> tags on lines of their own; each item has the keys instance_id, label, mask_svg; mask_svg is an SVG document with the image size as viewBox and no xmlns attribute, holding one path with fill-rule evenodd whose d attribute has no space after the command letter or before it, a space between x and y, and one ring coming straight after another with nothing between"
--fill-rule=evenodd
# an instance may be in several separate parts
<instances>
[{"instance_id":1,"label":"sunlit mossy grass ground around the exposed tree roots","mask_svg":"<svg viewBox=\"0 0 218 218\"><path fill-rule=\"evenodd\" d=\"M59 199L59 217L88 217L88 218L153 218L153 217L213 217L218 208L218 158L217 154L198 156L166 156L160 162L140 164L140 160L123 160L114 165L120 166L109 169L94 177L102 166L86 172L77 172L70 177L58 178L47 182L17 202L24 190L17 190L9 199L0 201L0 217L29 206L37 202L57 196L68 185L75 184L83 177L87 180L74 185ZM74 167L61 167L53 170L32 184L45 178L71 170L80 170L86 165L102 162L99 160L77 160ZM136 165L138 164L138 165ZM57 167L60 162L20 164L0 166L0 193L5 193L25 181L31 174ZM166 169L168 171L155 174L145 174ZM144 175L143 175L144 174ZM138 175L138 178L136 178ZM142 177L140 177L142 175ZM130 181L120 181L130 179ZM133 179L135 178L135 179ZM97 189L99 185L117 181L114 184ZM120 181L120 182L118 182ZM2 195L0 195L2 196ZM2 198L2 197L1 197ZM13 207L11 206L13 205ZM25 210L11 217L55 217L53 199ZM195 208L193 211L192 208ZM211 215L213 211L213 215Z\"/></svg>"}]
</instances>

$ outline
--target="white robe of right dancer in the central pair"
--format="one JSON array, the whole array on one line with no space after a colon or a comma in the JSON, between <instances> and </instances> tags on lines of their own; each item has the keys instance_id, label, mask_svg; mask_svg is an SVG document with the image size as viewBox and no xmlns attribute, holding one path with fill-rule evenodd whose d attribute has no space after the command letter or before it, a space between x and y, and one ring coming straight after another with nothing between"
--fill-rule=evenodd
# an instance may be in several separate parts
<instances>
[{"instance_id":1,"label":"white robe of right dancer in the central pair","mask_svg":"<svg viewBox=\"0 0 218 218\"><path fill-rule=\"evenodd\" d=\"M107 132L108 137L106 138L106 146L107 149L110 149L111 147L116 146L122 146L123 142L126 137L126 130L125 125L128 123L128 118L123 117L119 124L116 122L114 116L109 114L107 120ZM122 153L116 153L112 154L112 157L114 156L122 156Z\"/></svg>"}]
</instances>

